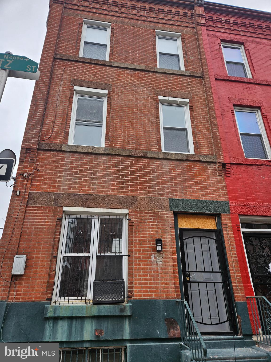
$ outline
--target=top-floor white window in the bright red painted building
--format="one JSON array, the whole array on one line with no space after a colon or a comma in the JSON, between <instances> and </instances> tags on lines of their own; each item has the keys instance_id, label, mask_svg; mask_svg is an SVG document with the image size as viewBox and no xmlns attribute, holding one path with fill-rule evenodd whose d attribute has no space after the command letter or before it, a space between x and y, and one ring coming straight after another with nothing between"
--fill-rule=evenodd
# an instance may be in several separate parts
<instances>
[{"instance_id":1,"label":"top-floor white window in the bright red painted building","mask_svg":"<svg viewBox=\"0 0 271 362\"><path fill-rule=\"evenodd\" d=\"M228 75L252 78L243 45L221 43Z\"/></svg>"}]
</instances>

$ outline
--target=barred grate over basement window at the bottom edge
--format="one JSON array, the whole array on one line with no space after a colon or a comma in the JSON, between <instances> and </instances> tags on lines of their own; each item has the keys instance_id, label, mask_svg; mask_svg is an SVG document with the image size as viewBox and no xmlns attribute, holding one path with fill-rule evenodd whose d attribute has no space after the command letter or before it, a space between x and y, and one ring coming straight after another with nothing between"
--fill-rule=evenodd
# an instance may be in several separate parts
<instances>
[{"instance_id":1,"label":"barred grate over basement window at the bottom edge","mask_svg":"<svg viewBox=\"0 0 271 362\"><path fill-rule=\"evenodd\" d=\"M88 348L59 350L59 362L125 362L126 348Z\"/></svg>"}]
</instances>

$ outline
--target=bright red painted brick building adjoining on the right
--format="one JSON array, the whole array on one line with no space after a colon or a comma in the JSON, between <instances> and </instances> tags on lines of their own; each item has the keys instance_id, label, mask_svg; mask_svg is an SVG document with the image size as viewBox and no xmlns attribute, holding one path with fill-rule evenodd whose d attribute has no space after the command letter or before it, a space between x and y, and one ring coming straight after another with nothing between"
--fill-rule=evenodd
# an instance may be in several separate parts
<instances>
[{"instance_id":1,"label":"bright red painted brick building adjoining on the right","mask_svg":"<svg viewBox=\"0 0 271 362\"><path fill-rule=\"evenodd\" d=\"M242 284L246 296L270 299L270 14L206 4L205 19Z\"/></svg>"}]
</instances>

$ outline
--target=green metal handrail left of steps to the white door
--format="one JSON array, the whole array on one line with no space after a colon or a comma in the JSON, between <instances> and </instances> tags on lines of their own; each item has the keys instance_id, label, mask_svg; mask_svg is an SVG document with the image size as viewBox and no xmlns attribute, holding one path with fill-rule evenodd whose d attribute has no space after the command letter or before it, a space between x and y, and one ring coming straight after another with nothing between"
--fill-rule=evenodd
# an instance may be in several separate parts
<instances>
[{"instance_id":1,"label":"green metal handrail left of steps to the white door","mask_svg":"<svg viewBox=\"0 0 271 362\"><path fill-rule=\"evenodd\" d=\"M197 323L186 300L177 300L181 318L180 337L182 345L190 350L191 361L204 362L207 359L207 348L199 332Z\"/></svg>"}]
</instances>

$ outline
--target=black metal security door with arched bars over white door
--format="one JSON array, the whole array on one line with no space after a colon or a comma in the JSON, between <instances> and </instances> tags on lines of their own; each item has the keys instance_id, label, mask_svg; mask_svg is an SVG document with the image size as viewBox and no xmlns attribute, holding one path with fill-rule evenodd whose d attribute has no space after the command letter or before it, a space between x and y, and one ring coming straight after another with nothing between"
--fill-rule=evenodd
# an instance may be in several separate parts
<instances>
[{"instance_id":1,"label":"black metal security door with arched bars over white door","mask_svg":"<svg viewBox=\"0 0 271 362\"><path fill-rule=\"evenodd\" d=\"M217 230L180 229L185 299L202 333L232 331L232 303Z\"/></svg>"}]
</instances>

